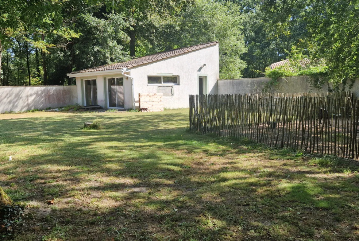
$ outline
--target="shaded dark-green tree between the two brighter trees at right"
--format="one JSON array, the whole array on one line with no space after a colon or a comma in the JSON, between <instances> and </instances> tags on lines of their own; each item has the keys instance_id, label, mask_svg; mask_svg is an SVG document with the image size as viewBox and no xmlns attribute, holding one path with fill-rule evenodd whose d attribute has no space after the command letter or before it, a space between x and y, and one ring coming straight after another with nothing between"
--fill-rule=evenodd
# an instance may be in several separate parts
<instances>
[{"instance_id":1,"label":"shaded dark-green tree between the two brighter trees at right","mask_svg":"<svg viewBox=\"0 0 359 241\"><path fill-rule=\"evenodd\" d=\"M286 59L292 46L306 36L305 4L302 0L233 0L243 18L248 51L243 77L262 77L265 68Z\"/></svg>"}]
</instances>

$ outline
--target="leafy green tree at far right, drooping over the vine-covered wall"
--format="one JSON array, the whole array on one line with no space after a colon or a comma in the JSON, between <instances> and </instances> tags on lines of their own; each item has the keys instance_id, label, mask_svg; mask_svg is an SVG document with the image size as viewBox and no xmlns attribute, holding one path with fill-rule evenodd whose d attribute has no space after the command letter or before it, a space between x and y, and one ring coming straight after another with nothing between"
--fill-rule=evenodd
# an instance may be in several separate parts
<instances>
[{"instance_id":1,"label":"leafy green tree at far right, drooping over the vine-covered wall","mask_svg":"<svg viewBox=\"0 0 359 241\"><path fill-rule=\"evenodd\" d=\"M324 60L334 84L359 77L359 0L262 2L262 14L277 36L297 37L298 45L313 62ZM298 22L295 34L289 26ZM288 48L287 48L288 49Z\"/></svg>"}]
</instances>

